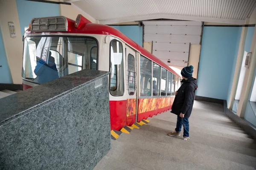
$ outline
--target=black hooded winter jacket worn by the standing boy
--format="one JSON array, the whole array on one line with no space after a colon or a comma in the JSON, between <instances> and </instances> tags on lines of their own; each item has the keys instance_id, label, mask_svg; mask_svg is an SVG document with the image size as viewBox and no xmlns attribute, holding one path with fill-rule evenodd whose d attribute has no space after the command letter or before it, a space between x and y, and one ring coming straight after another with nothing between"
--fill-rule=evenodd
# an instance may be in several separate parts
<instances>
[{"instance_id":1,"label":"black hooded winter jacket worn by the standing boy","mask_svg":"<svg viewBox=\"0 0 256 170\"><path fill-rule=\"evenodd\" d=\"M174 102L172 104L172 113L180 115L180 113L185 114L185 118L189 118L192 112L195 90L197 89L197 79L191 77L190 79L183 79L182 85L177 91Z\"/></svg>"}]
</instances>

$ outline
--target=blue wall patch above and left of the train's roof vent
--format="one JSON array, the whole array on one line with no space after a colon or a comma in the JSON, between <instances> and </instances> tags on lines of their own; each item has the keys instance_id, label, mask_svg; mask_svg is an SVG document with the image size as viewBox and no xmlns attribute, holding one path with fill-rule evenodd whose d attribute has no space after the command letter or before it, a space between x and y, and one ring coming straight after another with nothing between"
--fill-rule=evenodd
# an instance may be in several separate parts
<instances>
[{"instance_id":1,"label":"blue wall patch above and left of the train's roof vent","mask_svg":"<svg viewBox=\"0 0 256 170\"><path fill-rule=\"evenodd\" d=\"M59 16L59 5L52 3L16 0L20 20L20 31L24 35L24 27L28 27L32 18Z\"/></svg>"}]
</instances>

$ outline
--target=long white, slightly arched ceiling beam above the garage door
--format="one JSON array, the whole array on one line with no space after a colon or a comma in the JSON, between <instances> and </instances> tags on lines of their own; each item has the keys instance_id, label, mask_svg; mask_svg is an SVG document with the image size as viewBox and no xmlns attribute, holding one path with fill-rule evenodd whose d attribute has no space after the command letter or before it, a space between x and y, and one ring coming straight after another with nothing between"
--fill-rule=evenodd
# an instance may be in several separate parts
<instances>
[{"instance_id":1,"label":"long white, slightly arched ceiling beam above the garage door","mask_svg":"<svg viewBox=\"0 0 256 170\"><path fill-rule=\"evenodd\" d=\"M212 23L229 23L229 24L238 24L238 25L243 25L245 22L245 20L158 14L158 15L148 15L143 17L130 17L130 18L115 19L115 20L105 20L105 21L100 21L99 23L113 24L113 23L123 23L123 22L130 22L130 21L154 20L154 19L160 19L160 18L172 19L172 20L203 21L203 22L212 22Z\"/></svg>"}]
</instances>

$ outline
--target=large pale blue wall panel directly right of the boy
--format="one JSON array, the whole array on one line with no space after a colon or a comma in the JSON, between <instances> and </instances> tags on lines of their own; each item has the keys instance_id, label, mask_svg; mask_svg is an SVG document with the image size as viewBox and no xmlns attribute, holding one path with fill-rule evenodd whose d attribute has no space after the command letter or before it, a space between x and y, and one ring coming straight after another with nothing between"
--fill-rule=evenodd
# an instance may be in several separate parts
<instances>
[{"instance_id":1,"label":"large pale blue wall panel directly right of the boy","mask_svg":"<svg viewBox=\"0 0 256 170\"><path fill-rule=\"evenodd\" d=\"M239 27L204 27L197 96L227 100Z\"/></svg>"}]
</instances>

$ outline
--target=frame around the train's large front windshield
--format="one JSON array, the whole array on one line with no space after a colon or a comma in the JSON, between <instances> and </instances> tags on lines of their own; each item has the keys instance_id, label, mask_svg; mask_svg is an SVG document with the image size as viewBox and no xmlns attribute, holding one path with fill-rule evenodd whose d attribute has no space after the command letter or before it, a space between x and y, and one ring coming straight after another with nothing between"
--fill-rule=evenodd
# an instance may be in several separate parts
<instances>
[{"instance_id":1,"label":"frame around the train's large front windshield","mask_svg":"<svg viewBox=\"0 0 256 170\"><path fill-rule=\"evenodd\" d=\"M95 40L96 44L97 44L97 47L99 47L99 41L96 37L91 37L91 36L84 36L84 35L68 35L68 34L64 34L64 35L58 35L58 34L51 34L51 35L27 35L26 37L24 37L24 41L23 41L23 54L22 54L22 68L23 68L23 62L24 62L24 45L25 45L25 39L26 38L32 38L32 37L62 37L62 38L68 38L68 37L76 37L76 38L90 38L90 39L93 39ZM61 55L62 56L62 55ZM97 49L97 61L99 61L99 48ZM23 70L23 69L22 69ZM83 70L83 69L82 69ZM96 70L99 70L99 63L97 63L96 65ZM41 85L41 83L38 83L38 82L34 82L32 80L29 80L27 78L24 78L24 75L23 75L23 71L21 72L21 77L22 77L22 80L26 81L26 82L32 82L34 84L37 84L37 85ZM66 75L67 76L67 75ZM31 79L31 78L30 78ZM34 78L36 79L36 78ZM33 80L34 80L33 79Z\"/></svg>"}]
</instances>

